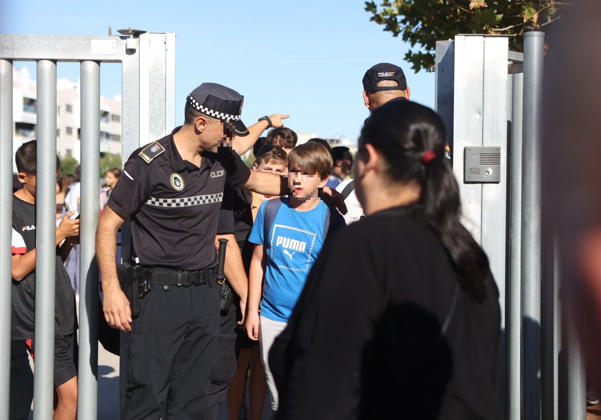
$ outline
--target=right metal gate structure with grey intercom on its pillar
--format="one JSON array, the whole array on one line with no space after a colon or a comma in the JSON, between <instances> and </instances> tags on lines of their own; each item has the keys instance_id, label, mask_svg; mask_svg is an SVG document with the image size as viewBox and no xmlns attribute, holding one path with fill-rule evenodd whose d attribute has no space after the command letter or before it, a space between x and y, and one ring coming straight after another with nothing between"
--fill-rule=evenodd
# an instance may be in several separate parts
<instances>
[{"instance_id":1,"label":"right metal gate structure with grey intercom on its pillar","mask_svg":"<svg viewBox=\"0 0 601 420\"><path fill-rule=\"evenodd\" d=\"M554 238L543 241L545 34L523 36L524 53L495 35L437 42L435 107L447 126L466 226L499 288L507 418L584 420L578 340L574 328L561 331L567 308L558 299L557 249L546 245Z\"/></svg>"}]
</instances>

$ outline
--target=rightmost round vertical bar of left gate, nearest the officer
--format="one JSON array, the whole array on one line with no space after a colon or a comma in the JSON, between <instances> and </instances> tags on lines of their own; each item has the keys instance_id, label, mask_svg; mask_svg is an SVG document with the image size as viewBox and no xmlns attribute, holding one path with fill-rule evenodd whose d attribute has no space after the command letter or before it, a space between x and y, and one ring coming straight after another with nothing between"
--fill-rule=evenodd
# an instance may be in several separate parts
<instances>
[{"instance_id":1,"label":"rightmost round vertical bar of left gate, nearest the officer","mask_svg":"<svg viewBox=\"0 0 601 420\"><path fill-rule=\"evenodd\" d=\"M78 419L97 416L98 266L94 232L99 217L100 63L81 63L81 226Z\"/></svg>"}]
</instances>

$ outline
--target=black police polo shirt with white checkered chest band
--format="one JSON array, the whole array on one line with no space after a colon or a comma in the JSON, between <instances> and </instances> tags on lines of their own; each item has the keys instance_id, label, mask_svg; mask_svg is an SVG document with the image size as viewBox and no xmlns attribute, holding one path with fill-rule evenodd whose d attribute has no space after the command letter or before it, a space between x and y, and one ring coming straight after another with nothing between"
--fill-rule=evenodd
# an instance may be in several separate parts
<instances>
[{"instance_id":1,"label":"black police polo shirt with white checkered chest band","mask_svg":"<svg viewBox=\"0 0 601 420\"><path fill-rule=\"evenodd\" d=\"M132 253L144 266L195 270L215 266L215 235L225 185L240 187L251 175L229 148L203 152L198 168L183 160L173 134L159 143L165 151L147 163L132 153L108 205L132 216ZM147 149L148 150L148 149Z\"/></svg>"}]
</instances>

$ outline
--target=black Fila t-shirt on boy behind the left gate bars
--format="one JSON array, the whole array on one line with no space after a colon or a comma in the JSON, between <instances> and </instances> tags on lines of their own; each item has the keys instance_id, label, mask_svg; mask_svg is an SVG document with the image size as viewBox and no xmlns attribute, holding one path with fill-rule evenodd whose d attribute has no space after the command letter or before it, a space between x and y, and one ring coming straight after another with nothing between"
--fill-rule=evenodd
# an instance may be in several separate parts
<instances>
[{"instance_id":1,"label":"black Fila t-shirt on boy behind the left gate bars","mask_svg":"<svg viewBox=\"0 0 601 420\"><path fill-rule=\"evenodd\" d=\"M35 248L35 205L13 196L12 254L25 254ZM21 281L13 279L12 340L34 338L35 269ZM54 333L68 335L77 329L75 293L69 274L56 247Z\"/></svg>"}]
</instances>

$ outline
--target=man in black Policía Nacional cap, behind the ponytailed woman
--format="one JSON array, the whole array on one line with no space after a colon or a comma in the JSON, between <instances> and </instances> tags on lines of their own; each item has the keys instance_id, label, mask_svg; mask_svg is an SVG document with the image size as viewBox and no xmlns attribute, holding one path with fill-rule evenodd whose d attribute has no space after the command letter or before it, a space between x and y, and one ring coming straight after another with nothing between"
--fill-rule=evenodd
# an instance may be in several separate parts
<instances>
[{"instance_id":1,"label":"man in black Polic\u00eda Nacional cap, behind the ponytailed woman","mask_svg":"<svg viewBox=\"0 0 601 420\"><path fill-rule=\"evenodd\" d=\"M370 112L394 98L409 100L410 93L403 69L394 64L376 64L363 76L363 100Z\"/></svg>"}]
</instances>

